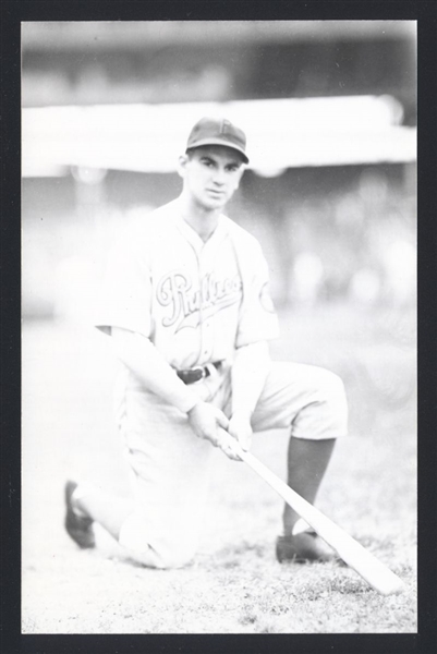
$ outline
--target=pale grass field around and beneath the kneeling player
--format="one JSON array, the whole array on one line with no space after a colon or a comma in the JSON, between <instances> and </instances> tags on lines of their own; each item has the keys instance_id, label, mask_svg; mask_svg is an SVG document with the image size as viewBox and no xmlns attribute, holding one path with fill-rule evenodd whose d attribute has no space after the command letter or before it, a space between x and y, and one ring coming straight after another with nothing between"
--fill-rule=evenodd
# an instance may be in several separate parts
<instances>
[{"instance_id":1,"label":"pale grass field around and beneath the kneeling player","mask_svg":"<svg viewBox=\"0 0 437 654\"><path fill-rule=\"evenodd\" d=\"M416 632L415 314L319 307L281 316L275 359L330 367L347 386L350 436L338 443L318 507L387 564L405 591L383 597L353 570L279 565L282 502L243 463L215 452L196 560L134 566L97 532L78 550L63 531L66 477L128 492L111 414L116 364L80 326L23 329L23 633ZM254 453L286 473L286 433Z\"/></svg>"}]
</instances>

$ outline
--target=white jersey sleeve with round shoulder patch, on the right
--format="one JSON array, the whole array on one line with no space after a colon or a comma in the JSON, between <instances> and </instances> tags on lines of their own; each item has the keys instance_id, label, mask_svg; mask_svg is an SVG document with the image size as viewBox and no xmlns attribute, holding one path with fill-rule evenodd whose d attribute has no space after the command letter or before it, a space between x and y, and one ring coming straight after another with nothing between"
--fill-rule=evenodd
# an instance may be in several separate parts
<instances>
[{"instance_id":1,"label":"white jersey sleeve with round shoulder patch, on the right","mask_svg":"<svg viewBox=\"0 0 437 654\"><path fill-rule=\"evenodd\" d=\"M235 347L242 348L278 337L278 316L270 296L268 265L256 243L251 247L247 272L243 276L241 304Z\"/></svg>"}]
</instances>

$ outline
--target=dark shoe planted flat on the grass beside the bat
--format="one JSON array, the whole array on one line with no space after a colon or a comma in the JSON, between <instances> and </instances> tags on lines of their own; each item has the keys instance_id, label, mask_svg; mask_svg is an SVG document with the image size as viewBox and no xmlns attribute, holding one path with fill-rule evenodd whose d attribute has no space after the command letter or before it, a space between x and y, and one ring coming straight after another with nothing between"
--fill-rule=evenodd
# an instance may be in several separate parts
<instances>
[{"instance_id":1,"label":"dark shoe planted flat on the grass beside the bat","mask_svg":"<svg viewBox=\"0 0 437 654\"><path fill-rule=\"evenodd\" d=\"M294 536L279 536L276 542L276 558L280 564L339 561L338 555L313 531L301 532Z\"/></svg>"}]
</instances>

